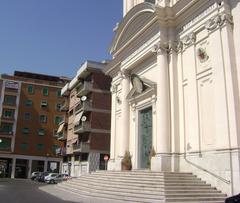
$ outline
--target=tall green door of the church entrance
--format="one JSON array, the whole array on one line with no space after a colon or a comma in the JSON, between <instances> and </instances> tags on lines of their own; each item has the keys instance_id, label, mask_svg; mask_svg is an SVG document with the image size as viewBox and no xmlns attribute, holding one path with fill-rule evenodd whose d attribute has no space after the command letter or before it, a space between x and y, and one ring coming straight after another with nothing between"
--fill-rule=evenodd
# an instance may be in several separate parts
<instances>
[{"instance_id":1,"label":"tall green door of the church entrance","mask_svg":"<svg viewBox=\"0 0 240 203\"><path fill-rule=\"evenodd\" d=\"M140 111L140 168L148 168L152 149L152 107Z\"/></svg>"}]
</instances>

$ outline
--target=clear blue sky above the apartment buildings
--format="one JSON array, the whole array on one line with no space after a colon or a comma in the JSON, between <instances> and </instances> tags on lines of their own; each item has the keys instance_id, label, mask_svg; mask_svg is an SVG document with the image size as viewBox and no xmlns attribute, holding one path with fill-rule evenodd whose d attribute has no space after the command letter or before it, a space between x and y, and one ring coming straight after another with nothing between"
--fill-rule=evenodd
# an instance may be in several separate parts
<instances>
[{"instance_id":1,"label":"clear blue sky above the apartment buildings","mask_svg":"<svg viewBox=\"0 0 240 203\"><path fill-rule=\"evenodd\" d=\"M0 0L0 73L73 77L109 59L122 0Z\"/></svg>"}]
</instances>

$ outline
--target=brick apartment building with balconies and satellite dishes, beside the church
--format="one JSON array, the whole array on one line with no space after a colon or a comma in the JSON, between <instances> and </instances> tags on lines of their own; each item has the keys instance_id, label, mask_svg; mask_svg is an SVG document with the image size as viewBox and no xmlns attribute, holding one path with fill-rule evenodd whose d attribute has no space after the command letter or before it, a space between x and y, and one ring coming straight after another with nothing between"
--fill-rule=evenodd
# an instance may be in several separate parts
<instances>
[{"instance_id":1,"label":"brick apartment building with balconies and satellite dishes, beside the church","mask_svg":"<svg viewBox=\"0 0 240 203\"><path fill-rule=\"evenodd\" d=\"M80 176L104 169L104 155L109 155L111 94L110 78L102 73L106 63L86 61L73 80L62 89L65 122L59 125L59 140L66 152L63 172Z\"/></svg>"}]
</instances>

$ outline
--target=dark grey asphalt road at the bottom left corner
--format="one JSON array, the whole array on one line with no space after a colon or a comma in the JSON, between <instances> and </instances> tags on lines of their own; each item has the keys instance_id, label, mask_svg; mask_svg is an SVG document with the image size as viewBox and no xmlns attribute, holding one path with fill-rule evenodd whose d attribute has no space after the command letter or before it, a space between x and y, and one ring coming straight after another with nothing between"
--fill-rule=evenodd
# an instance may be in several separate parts
<instances>
[{"instance_id":1,"label":"dark grey asphalt road at the bottom left corner","mask_svg":"<svg viewBox=\"0 0 240 203\"><path fill-rule=\"evenodd\" d=\"M1 203L76 203L81 201L65 201L39 188L53 188L53 185L38 183L24 179L0 179Z\"/></svg>"}]
</instances>

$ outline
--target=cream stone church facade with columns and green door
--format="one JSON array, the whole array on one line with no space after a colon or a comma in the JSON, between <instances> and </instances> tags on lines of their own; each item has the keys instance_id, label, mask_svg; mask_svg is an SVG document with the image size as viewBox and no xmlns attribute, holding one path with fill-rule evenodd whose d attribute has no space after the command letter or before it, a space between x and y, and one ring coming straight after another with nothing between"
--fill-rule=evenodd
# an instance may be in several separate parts
<instances>
[{"instance_id":1,"label":"cream stone church facade with columns and green door","mask_svg":"<svg viewBox=\"0 0 240 203\"><path fill-rule=\"evenodd\" d=\"M129 151L133 169L192 172L239 193L239 19L239 0L124 0L104 69L108 170Z\"/></svg>"}]
</instances>

